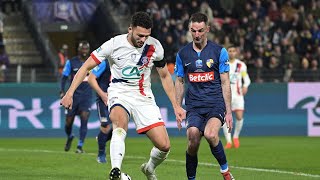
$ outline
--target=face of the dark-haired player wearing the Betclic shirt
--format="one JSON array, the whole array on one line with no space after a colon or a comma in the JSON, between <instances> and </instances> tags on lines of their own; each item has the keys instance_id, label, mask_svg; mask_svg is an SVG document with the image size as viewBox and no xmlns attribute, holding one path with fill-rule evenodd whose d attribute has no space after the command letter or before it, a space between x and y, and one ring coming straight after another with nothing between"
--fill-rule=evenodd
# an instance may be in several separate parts
<instances>
[{"instance_id":1,"label":"face of the dark-haired player wearing the Betclic shirt","mask_svg":"<svg viewBox=\"0 0 320 180\"><path fill-rule=\"evenodd\" d=\"M209 32L209 26L204 22L191 22L189 30L192 35L194 43L203 43L207 39L207 32Z\"/></svg>"}]
</instances>

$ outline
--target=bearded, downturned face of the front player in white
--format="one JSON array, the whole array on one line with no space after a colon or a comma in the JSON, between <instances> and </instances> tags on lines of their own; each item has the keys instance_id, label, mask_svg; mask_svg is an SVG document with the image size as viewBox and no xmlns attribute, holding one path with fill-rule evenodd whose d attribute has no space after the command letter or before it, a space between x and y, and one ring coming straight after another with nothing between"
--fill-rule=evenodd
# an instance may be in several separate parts
<instances>
[{"instance_id":1,"label":"bearded, downturned face of the front player in white","mask_svg":"<svg viewBox=\"0 0 320 180\"><path fill-rule=\"evenodd\" d=\"M144 42L148 39L151 34L151 28L146 29L140 26L129 27L130 41L134 47L141 48Z\"/></svg>"}]
</instances>

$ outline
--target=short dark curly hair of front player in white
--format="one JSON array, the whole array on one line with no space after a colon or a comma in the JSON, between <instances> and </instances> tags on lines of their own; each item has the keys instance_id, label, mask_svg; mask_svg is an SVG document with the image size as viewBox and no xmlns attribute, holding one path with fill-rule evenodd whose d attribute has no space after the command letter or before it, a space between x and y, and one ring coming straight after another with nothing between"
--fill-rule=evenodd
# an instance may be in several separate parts
<instances>
[{"instance_id":1,"label":"short dark curly hair of front player in white","mask_svg":"<svg viewBox=\"0 0 320 180\"><path fill-rule=\"evenodd\" d=\"M132 27L143 27L146 29L150 29L153 27L152 19L146 12L136 12L131 18L131 26Z\"/></svg>"}]
</instances>

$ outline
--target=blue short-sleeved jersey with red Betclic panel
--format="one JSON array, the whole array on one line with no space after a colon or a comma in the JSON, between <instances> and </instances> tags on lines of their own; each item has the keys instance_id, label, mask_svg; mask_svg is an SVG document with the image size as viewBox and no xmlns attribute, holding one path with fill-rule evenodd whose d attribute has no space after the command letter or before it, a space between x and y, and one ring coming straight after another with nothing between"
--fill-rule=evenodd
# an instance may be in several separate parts
<instances>
[{"instance_id":1,"label":"blue short-sleeved jersey with red Betclic panel","mask_svg":"<svg viewBox=\"0 0 320 180\"><path fill-rule=\"evenodd\" d=\"M185 78L185 104L190 109L221 107L225 109L220 73L229 72L229 57L222 46L208 41L201 52L189 43L176 56L175 74Z\"/></svg>"}]
</instances>

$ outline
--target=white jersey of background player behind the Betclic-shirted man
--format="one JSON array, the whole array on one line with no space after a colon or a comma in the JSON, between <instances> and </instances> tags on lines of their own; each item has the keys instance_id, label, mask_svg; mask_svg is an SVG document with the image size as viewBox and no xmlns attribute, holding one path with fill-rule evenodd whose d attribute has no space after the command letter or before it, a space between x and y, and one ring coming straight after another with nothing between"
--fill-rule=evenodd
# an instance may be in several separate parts
<instances>
[{"instance_id":1,"label":"white jersey of background player behind the Betclic-shirted man","mask_svg":"<svg viewBox=\"0 0 320 180\"><path fill-rule=\"evenodd\" d=\"M247 73L247 66L239 59L235 59L232 63L230 61L229 64L232 97L243 96L242 87L248 87L251 83L251 80Z\"/></svg>"}]
</instances>

